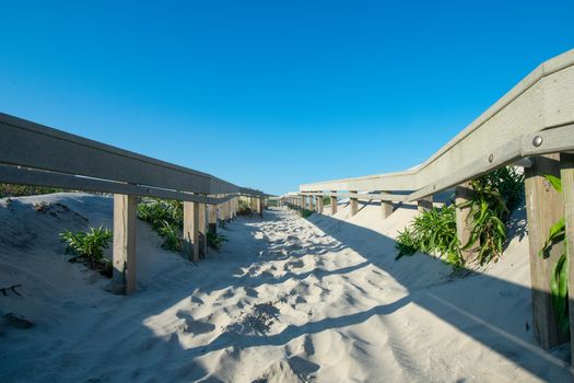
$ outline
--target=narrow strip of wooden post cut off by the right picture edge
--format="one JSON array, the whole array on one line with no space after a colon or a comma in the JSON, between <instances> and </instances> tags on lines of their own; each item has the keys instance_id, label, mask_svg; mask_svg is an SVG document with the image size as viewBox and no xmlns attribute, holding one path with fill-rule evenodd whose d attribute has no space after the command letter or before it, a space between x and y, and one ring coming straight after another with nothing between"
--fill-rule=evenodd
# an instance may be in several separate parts
<instances>
[{"instance_id":1,"label":"narrow strip of wooden post cut off by the right picture edge","mask_svg":"<svg viewBox=\"0 0 574 383\"><path fill-rule=\"evenodd\" d=\"M560 154L560 177L564 198L564 220L566 223L566 242L574 244L574 154ZM570 347L574 356L574 245L566 246L569 258L569 310L570 310ZM574 357L572 358L574 364Z\"/></svg>"}]
</instances>

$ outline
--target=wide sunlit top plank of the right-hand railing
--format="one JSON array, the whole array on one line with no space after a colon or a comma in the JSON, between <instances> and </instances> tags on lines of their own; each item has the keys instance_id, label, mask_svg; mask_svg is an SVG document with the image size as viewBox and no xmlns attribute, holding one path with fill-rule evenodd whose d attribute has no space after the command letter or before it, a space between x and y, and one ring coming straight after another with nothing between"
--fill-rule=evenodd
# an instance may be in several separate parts
<instances>
[{"instance_id":1,"label":"wide sunlit top plank of the right-hand railing","mask_svg":"<svg viewBox=\"0 0 574 383\"><path fill-rule=\"evenodd\" d=\"M418 190L478 159L493 143L574 123L574 50L536 68L415 170L304 184L300 190ZM460 184L467 179L455 183Z\"/></svg>"}]
</instances>

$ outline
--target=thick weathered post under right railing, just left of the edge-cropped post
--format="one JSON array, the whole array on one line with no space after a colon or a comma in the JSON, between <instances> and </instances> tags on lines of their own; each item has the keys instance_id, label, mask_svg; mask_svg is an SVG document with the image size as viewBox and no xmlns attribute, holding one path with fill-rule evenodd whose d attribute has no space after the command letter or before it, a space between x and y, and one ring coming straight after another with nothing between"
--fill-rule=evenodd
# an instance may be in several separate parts
<instances>
[{"instance_id":1,"label":"thick weathered post under right railing, just left of the edge-cropped post","mask_svg":"<svg viewBox=\"0 0 574 383\"><path fill-rule=\"evenodd\" d=\"M564 214L562 194L552 188L544 177L546 174L560 176L559 154L535 158L532 166L525 169L532 328L536 339L547 350L563 344L567 338L561 334L557 325L550 291L552 269L564 247L555 244L544 257L538 256L549 236L550 228Z\"/></svg>"}]
</instances>

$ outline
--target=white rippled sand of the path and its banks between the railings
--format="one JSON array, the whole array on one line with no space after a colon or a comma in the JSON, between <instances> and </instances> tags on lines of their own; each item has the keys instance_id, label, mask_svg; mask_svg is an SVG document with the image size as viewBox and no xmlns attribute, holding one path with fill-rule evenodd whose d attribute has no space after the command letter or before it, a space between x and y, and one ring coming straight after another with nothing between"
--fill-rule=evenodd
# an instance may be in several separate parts
<instances>
[{"instance_id":1,"label":"white rippled sand of the path and its banks between the railings","mask_svg":"<svg viewBox=\"0 0 574 383\"><path fill-rule=\"evenodd\" d=\"M34 202L63 204L38 213ZM348 219L286 209L239 218L198 265L138 224L139 291L66 262L58 233L112 227L112 200L82 194L0 201L1 382L569 382L567 347L532 338L527 237L464 279L424 255L395 262L393 237L417 213ZM326 209L328 212L328 208ZM75 214L75 213L78 214ZM520 223L523 212L516 218ZM520 229L522 228L522 229ZM520 239L522 236L522 239Z\"/></svg>"}]
</instances>

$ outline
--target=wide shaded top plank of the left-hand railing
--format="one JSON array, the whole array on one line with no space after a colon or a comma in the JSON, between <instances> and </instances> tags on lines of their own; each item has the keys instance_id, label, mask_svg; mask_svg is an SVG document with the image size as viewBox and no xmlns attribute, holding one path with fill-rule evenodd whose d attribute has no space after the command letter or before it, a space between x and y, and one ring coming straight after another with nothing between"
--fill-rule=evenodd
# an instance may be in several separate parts
<instances>
[{"instance_id":1,"label":"wide shaded top plank of the left-hand railing","mask_svg":"<svg viewBox=\"0 0 574 383\"><path fill-rule=\"evenodd\" d=\"M177 192L261 194L259 190L243 188L203 172L1 113L0 131L2 134L0 164L21 165Z\"/></svg>"}]
</instances>

